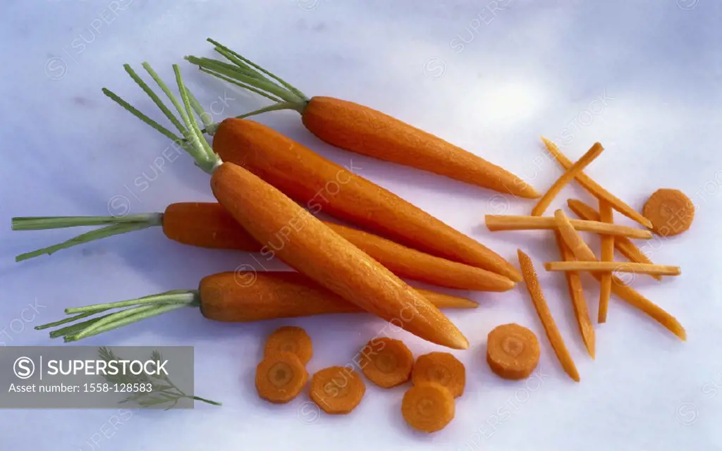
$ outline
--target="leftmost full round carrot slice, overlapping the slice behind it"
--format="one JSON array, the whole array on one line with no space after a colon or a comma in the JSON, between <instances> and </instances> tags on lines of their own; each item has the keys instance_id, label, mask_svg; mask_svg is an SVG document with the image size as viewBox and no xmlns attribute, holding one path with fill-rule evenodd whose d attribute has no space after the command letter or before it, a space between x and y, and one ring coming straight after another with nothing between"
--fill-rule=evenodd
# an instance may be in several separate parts
<instances>
[{"instance_id":1,"label":"leftmost full round carrot slice, overlapping the slice behind it","mask_svg":"<svg viewBox=\"0 0 722 451\"><path fill-rule=\"evenodd\" d=\"M256 367L258 396L271 403L287 403L301 393L308 372L296 354L279 352L266 356Z\"/></svg>"}]
</instances>

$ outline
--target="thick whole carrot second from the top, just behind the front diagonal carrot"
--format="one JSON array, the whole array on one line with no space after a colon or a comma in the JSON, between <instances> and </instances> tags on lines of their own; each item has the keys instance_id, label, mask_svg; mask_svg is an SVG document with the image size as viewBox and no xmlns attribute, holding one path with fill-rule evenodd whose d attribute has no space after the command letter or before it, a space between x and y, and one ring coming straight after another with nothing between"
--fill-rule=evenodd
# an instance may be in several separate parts
<instances>
[{"instance_id":1,"label":"thick whole carrot second from the top, just behind the front diagonal carrot","mask_svg":"<svg viewBox=\"0 0 722 451\"><path fill-rule=\"evenodd\" d=\"M136 82L143 83L130 66L126 65L126 71L134 76ZM160 80L157 75L154 78ZM180 86L180 74L176 79ZM142 87L152 93L144 84ZM186 92L189 102L193 100L185 87L181 91ZM179 128L183 136L190 136L182 139L110 90L104 89L103 92L164 136L184 146L197 157L196 163L206 172L214 172L224 160L241 165L290 198L305 203L314 213L323 210L326 214L352 222L400 244L478 266L514 281L521 280L521 275L511 263L484 245L269 127L240 119L212 123L209 121L210 115L197 105L196 108L202 112L199 115L206 121L204 131L214 133L215 136L211 149L197 126ZM163 110L165 105L162 102L160 105ZM182 111L182 108L178 106L178 110ZM171 121L179 122L168 108L165 111L168 118L172 118ZM186 111L181 116L191 121L193 111Z\"/></svg>"}]
</instances>

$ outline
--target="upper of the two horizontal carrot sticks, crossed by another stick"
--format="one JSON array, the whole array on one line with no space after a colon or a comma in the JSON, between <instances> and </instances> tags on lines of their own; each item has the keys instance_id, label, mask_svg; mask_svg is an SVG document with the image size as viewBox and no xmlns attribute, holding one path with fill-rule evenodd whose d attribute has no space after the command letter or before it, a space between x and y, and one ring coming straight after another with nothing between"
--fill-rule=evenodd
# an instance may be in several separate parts
<instances>
[{"instance_id":1,"label":"upper of the two horizontal carrot sticks, crossed by another stick","mask_svg":"<svg viewBox=\"0 0 722 451\"><path fill-rule=\"evenodd\" d=\"M492 232L500 230L553 230L557 228L554 218L546 216L509 216L509 215L493 215L484 216L484 222L487 229ZM615 237L632 237L648 240L652 237L652 232L644 229L635 229L633 227L621 226L617 224L606 224L606 222L597 221L581 221L572 219L572 225L581 232L594 232L599 234L614 235Z\"/></svg>"}]
</instances>

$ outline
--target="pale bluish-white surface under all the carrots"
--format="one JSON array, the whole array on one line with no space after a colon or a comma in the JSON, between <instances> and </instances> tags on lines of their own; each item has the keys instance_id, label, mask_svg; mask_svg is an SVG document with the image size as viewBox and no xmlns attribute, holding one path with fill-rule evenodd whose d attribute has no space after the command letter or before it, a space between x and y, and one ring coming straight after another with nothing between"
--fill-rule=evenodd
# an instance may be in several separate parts
<instances>
[{"instance_id":1,"label":"pale bluish-white surface under all the carrots","mask_svg":"<svg viewBox=\"0 0 722 451\"><path fill-rule=\"evenodd\" d=\"M471 294L481 302L479 310L450 313L471 341L469 351L454 352L466 364L466 393L456 404L456 419L430 436L412 432L401 419L404 387L368 385L356 411L339 417L315 418L305 395L286 406L270 406L256 396L253 369L264 336L277 326L296 324L309 331L313 372L349 362L383 328L380 320L356 315L219 325L188 309L81 343L196 346L196 393L222 400L222 408L199 404L194 411L135 411L117 430L103 426L113 411L0 411L1 448L721 449L722 6L697 1L560 1L554 6L521 0L487 6L484 1L432 2L436 6L363 1L352 6L326 0L118 0L124 9L116 16L105 1L6 1L0 26L5 49L0 329L7 344L61 344L32 326L60 318L66 306L194 288L201 276L252 261L239 253L183 247L165 240L159 229L51 258L12 261L17 253L76 231L10 233L11 216L107 214L113 196L124 196L133 213L212 199L207 176L185 155L168 162L141 191L135 180L144 174L154 178L154 159L168 142L100 92L110 87L152 111L121 64L150 61L169 76L170 64L183 55L210 54L207 35L282 74L308 95L334 95L391 113L503 165L539 191L560 175L541 152L539 135L544 134L573 159L601 141L606 151L588 174L635 208L657 188L669 187L682 189L698 210L689 233L646 248L656 262L682 266L683 275L661 283L645 276L635 281L645 296L677 316L687 328L687 343L613 299L609 323L596 328L593 361L580 340L562 275L541 271L543 261L557 259L550 235L492 234L480 227L487 212L526 214L531 202L505 201L332 149L306 132L295 113L264 115L261 121L336 162L353 158L361 175L505 257L516 261L516 248L526 250L540 271L581 383L560 369L523 286L504 294ZM81 35L90 41L84 48ZM48 64L53 57L65 65ZM232 97L227 106L215 104L217 118L263 104L183 67L204 105L224 91ZM62 77L53 80L46 73ZM599 97L606 97L606 105L595 102ZM552 207L570 196L591 201L573 185ZM123 198L115 198L117 206ZM585 285L596 316L597 286L591 279ZM36 301L37 317L22 328L15 321L11 330L12 321ZM505 382L484 362L487 333L509 322L527 325L539 336L541 379ZM398 336L417 355L438 348L408 334ZM110 437L97 435L101 430ZM91 446L94 434L101 438Z\"/></svg>"}]
</instances>

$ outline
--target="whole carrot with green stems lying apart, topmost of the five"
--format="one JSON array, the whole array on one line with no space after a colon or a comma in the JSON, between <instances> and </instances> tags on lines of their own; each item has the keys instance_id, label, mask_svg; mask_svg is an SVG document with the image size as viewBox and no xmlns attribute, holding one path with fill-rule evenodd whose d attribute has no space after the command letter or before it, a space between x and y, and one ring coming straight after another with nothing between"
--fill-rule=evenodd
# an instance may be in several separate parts
<instances>
[{"instance_id":1,"label":"whole carrot with green stems lying apart, topmost of the five","mask_svg":"<svg viewBox=\"0 0 722 451\"><path fill-rule=\"evenodd\" d=\"M264 95L275 103L247 113L248 117L272 110L295 110L303 125L329 144L390 162L445 175L465 183L525 198L539 197L521 178L477 155L419 130L407 123L346 100L306 97L279 77L238 53L209 39L231 64L212 58L187 56L191 64L227 82Z\"/></svg>"}]
</instances>

